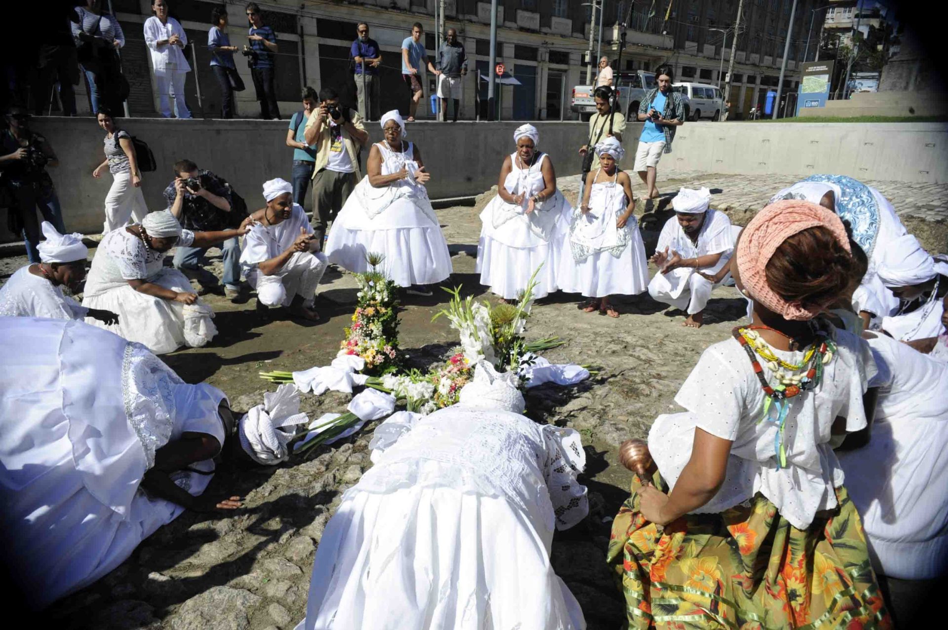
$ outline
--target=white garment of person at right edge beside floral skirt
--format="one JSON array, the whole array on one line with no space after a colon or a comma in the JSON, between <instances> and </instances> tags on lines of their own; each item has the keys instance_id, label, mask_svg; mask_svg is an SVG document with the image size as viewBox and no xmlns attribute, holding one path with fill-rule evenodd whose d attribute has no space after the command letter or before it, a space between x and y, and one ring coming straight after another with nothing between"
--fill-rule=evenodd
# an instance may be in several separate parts
<instances>
[{"instance_id":1,"label":"white garment of person at right edge beside floral skirt","mask_svg":"<svg viewBox=\"0 0 948 630\"><path fill-rule=\"evenodd\" d=\"M846 488L878 572L937 578L948 570L948 366L884 334L868 344L879 401L869 443L837 454Z\"/></svg>"}]
</instances>

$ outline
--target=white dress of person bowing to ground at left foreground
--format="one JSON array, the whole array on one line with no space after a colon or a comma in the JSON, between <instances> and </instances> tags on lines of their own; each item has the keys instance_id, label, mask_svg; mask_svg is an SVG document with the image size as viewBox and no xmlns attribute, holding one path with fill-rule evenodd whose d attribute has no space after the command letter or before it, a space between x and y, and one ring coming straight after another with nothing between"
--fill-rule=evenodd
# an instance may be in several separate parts
<instances>
[{"instance_id":1,"label":"white dress of person bowing to ground at left foreground","mask_svg":"<svg viewBox=\"0 0 948 630\"><path fill-rule=\"evenodd\" d=\"M45 606L118 567L182 512L138 484L155 450L184 431L223 443L225 396L76 320L2 317L0 354L2 544L30 603ZM192 467L210 472L213 462ZM173 478L191 495L210 483Z\"/></svg>"}]
</instances>

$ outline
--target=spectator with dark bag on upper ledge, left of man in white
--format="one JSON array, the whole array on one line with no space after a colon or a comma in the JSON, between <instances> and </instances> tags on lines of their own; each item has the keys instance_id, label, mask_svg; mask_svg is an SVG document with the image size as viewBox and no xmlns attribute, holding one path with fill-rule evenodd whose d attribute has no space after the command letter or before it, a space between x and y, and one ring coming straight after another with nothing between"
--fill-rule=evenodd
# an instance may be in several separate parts
<instances>
[{"instance_id":1,"label":"spectator with dark bag on upper ledge, left of man in white","mask_svg":"<svg viewBox=\"0 0 948 630\"><path fill-rule=\"evenodd\" d=\"M89 81L92 111L100 106L121 108L121 66L116 49L125 45L121 26L113 15L101 13L101 0L85 0L76 8L78 23L72 23L72 36L82 72Z\"/></svg>"}]
</instances>

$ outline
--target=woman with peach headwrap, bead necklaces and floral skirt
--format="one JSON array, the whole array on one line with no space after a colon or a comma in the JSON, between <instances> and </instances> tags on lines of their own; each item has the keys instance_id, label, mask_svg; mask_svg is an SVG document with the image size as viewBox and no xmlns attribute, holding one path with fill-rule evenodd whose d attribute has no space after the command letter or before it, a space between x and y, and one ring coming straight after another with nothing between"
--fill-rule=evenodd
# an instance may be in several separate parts
<instances>
[{"instance_id":1,"label":"woman with peach headwrap, bead necklaces and floral skirt","mask_svg":"<svg viewBox=\"0 0 948 630\"><path fill-rule=\"evenodd\" d=\"M892 627L832 450L875 408L866 341L819 316L852 265L843 222L805 201L741 232L752 325L702 353L675 397L687 411L623 461L636 477L607 557L629 628Z\"/></svg>"}]
</instances>

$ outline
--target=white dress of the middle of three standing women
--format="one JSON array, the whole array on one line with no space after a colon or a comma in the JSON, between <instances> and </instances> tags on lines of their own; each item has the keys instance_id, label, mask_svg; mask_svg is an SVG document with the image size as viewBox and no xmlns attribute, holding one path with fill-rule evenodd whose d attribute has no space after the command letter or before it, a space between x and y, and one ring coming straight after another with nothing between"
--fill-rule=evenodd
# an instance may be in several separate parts
<instances>
[{"instance_id":1,"label":"white dress of the middle of three standing women","mask_svg":"<svg viewBox=\"0 0 948 630\"><path fill-rule=\"evenodd\" d=\"M534 297L545 297L559 289L559 261L573 208L557 189L553 197L526 213L530 197L546 188L541 171L546 159L546 153L540 153L532 166L520 169L517 153L511 154L512 169L503 188L512 195L522 192L523 203L508 204L499 194L481 212L477 272L481 284L505 299L517 299L541 264Z\"/></svg>"}]
</instances>

